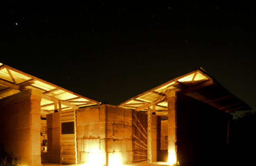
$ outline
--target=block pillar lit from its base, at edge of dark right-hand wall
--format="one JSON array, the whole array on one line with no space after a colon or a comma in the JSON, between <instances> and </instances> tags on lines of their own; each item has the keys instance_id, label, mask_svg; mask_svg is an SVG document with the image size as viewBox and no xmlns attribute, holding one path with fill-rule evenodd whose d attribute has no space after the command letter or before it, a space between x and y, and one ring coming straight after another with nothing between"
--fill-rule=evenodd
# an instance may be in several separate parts
<instances>
[{"instance_id":1,"label":"block pillar lit from its base, at edge of dark right-hand wall","mask_svg":"<svg viewBox=\"0 0 256 166\"><path fill-rule=\"evenodd\" d=\"M176 164L177 162L177 92L167 93L168 102L168 163Z\"/></svg>"}]
</instances>

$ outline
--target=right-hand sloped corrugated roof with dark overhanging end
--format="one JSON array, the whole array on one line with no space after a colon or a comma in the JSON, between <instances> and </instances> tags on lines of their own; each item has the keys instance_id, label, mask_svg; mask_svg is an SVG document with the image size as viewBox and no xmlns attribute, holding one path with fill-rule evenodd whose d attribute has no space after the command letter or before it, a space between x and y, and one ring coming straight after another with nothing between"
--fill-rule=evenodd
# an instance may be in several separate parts
<instances>
[{"instance_id":1,"label":"right-hand sloped corrugated roof with dark overhanging end","mask_svg":"<svg viewBox=\"0 0 256 166\"><path fill-rule=\"evenodd\" d=\"M169 91L180 91L225 112L251 110L244 101L232 95L202 68L132 97L118 106L146 111L148 106L154 104L156 114L165 116L167 115L167 92Z\"/></svg>"}]
</instances>

